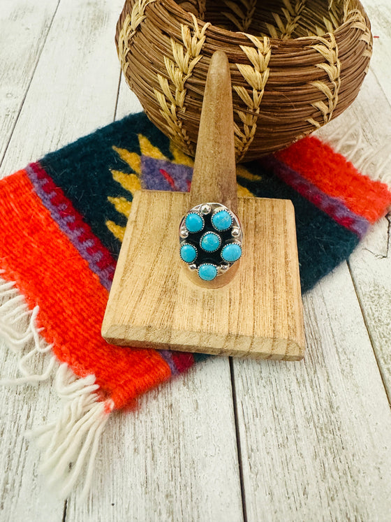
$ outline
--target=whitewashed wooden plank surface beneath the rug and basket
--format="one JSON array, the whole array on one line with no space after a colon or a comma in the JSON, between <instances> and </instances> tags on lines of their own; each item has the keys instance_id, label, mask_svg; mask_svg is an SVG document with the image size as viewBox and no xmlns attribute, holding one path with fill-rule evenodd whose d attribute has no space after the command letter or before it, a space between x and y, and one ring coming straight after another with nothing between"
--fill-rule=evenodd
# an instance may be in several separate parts
<instances>
[{"instance_id":1,"label":"whitewashed wooden plank surface beneath the rug and basket","mask_svg":"<svg viewBox=\"0 0 391 522\"><path fill-rule=\"evenodd\" d=\"M357 101L323 133L359 122L391 138L391 10L364 0L374 58ZM114 45L122 0L1 0L0 175L140 106ZM343 130L344 131L344 130ZM0 521L391 520L390 222L304 297L304 362L212 358L115 414L91 494L57 500L24 430L57 409L50 383L3 389ZM15 358L0 350L1 375Z\"/></svg>"}]
</instances>

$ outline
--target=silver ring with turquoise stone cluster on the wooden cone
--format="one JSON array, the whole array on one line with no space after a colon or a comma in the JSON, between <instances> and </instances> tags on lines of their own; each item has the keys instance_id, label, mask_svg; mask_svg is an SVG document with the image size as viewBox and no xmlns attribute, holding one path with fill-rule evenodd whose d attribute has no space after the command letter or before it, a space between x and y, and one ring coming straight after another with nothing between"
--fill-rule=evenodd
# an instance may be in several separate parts
<instances>
[{"instance_id":1,"label":"silver ring with turquoise stone cluster on the wooden cone","mask_svg":"<svg viewBox=\"0 0 391 522\"><path fill-rule=\"evenodd\" d=\"M212 281L242 256L243 232L235 213L221 203L201 203L179 224L179 255L203 281Z\"/></svg>"}]
</instances>

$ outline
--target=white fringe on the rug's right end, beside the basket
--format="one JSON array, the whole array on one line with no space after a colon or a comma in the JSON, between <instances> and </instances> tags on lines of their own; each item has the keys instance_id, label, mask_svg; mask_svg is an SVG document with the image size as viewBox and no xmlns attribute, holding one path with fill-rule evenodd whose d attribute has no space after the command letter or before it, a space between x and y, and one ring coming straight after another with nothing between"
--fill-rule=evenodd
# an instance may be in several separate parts
<instances>
[{"instance_id":1,"label":"white fringe on the rug's right end, beside the basket","mask_svg":"<svg viewBox=\"0 0 391 522\"><path fill-rule=\"evenodd\" d=\"M359 124L351 126L346 132L344 126L337 126L334 131L326 125L316 131L316 136L330 143L336 152L344 154L355 168L372 180L380 181L391 189L391 147L387 140L381 147L371 147L367 144L362 127Z\"/></svg>"}]
</instances>

